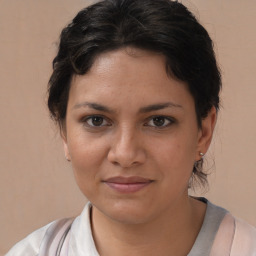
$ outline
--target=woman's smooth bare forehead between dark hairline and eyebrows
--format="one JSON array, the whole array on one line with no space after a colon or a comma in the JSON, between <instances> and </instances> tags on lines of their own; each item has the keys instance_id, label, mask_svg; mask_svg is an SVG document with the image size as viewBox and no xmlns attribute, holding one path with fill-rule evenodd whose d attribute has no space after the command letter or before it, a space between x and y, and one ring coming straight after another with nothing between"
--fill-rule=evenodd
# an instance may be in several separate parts
<instances>
[{"instance_id":1,"label":"woman's smooth bare forehead between dark hairline and eyebrows","mask_svg":"<svg viewBox=\"0 0 256 256\"><path fill-rule=\"evenodd\" d=\"M119 106L193 101L187 85L167 74L163 55L134 48L103 53L87 74L73 77L69 103L85 100Z\"/></svg>"}]
</instances>

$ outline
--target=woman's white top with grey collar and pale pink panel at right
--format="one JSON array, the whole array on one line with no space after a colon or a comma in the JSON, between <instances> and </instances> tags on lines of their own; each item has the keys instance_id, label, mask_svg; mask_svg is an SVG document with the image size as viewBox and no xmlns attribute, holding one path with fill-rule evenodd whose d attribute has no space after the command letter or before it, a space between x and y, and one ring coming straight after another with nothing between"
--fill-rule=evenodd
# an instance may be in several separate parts
<instances>
[{"instance_id":1,"label":"woman's white top with grey collar and pale pink panel at right","mask_svg":"<svg viewBox=\"0 0 256 256\"><path fill-rule=\"evenodd\" d=\"M256 256L256 229L235 219L226 210L203 201L207 202L204 222L188 256ZM99 256L91 231L90 207L87 203L81 215L75 218L61 256ZM6 256L37 256L42 239L53 223L17 243Z\"/></svg>"}]
</instances>

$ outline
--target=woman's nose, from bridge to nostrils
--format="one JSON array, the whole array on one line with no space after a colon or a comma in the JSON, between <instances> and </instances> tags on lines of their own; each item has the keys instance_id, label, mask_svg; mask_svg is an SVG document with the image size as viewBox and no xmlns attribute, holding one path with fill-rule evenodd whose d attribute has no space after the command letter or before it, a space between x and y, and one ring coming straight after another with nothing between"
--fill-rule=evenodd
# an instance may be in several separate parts
<instances>
[{"instance_id":1,"label":"woman's nose, from bridge to nostrils","mask_svg":"<svg viewBox=\"0 0 256 256\"><path fill-rule=\"evenodd\" d=\"M108 160L122 168L143 164L146 160L141 134L129 128L117 131L111 141Z\"/></svg>"}]
</instances>

